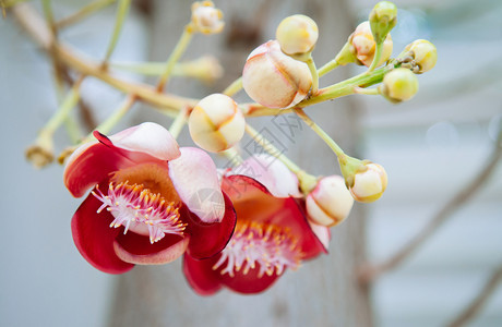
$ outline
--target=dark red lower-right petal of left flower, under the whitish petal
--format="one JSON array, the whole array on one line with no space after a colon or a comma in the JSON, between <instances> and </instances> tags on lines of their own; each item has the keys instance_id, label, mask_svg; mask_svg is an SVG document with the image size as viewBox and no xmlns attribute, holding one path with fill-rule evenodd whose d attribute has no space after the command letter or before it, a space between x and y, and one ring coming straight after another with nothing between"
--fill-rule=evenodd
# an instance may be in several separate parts
<instances>
[{"instance_id":1,"label":"dark red lower-right petal of left flower, under the whitish petal","mask_svg":"<svg viewBox=\"0 0 502 327\"><path fill-rule=\"evenodd\" d=\"M205 223L199 217L187 210L189 217L187 231L190 234L190 244L187 252L194 258L211 257L225 249L236 228L236 211L230 198L223 193L225 198L225 216L222 222Z\"/></svg>"}]
</instances>

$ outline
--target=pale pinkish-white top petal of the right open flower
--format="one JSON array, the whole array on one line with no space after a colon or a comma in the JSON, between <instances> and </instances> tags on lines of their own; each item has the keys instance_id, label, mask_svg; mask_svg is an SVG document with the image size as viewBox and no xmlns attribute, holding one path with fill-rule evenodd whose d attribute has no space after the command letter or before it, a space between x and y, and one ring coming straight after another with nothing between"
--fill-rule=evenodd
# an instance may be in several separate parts
<instances>
[{"instance_id":1,"label":"pale pinkish-white top petal of the right open flower","mask_svg":"<svg viewBox=\"0 0 502 327\"><path fill-rule=\"evenodd\" d=\"M268 155L254 155L227 175L241 174L262 183L275 197L300 197L298 178L277 158Z\"/></svg>"}]
</instances>

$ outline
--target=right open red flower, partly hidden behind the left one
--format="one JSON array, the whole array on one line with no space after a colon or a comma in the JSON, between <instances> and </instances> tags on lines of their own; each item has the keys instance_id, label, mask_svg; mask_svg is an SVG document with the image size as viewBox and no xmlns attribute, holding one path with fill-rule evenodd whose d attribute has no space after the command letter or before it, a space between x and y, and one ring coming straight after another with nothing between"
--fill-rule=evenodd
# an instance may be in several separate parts
<instances>
[{"instance_id":1,"label":"right open red flower, partly hidden behind the left one","mask_svg":"<svg viewBox=\"0 0 502 327\"><path fill-rule=\"evenodd\" d=\"M326 252L328 229L306 218L304 202L295 198L301 196L298 180L278 160L254 156L227 171L222 187L237 211L236 231L214 257L184 255L183 272L198 293L211 295L222 287L258 293L286 269Z\"/></svg>"}]
</instances>

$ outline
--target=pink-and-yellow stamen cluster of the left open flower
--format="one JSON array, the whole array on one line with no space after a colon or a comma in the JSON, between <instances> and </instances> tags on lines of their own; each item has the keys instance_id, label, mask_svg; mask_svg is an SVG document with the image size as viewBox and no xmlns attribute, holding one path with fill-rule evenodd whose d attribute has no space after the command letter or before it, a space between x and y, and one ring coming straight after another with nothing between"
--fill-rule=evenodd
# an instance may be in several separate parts
<instances>
[{"instance_id":1,"label":"pink-and-yellow stamen cluster of the left open flower","mask_svg":"<svg viewBox=\"0 0 502 327\"><path fill-rule=\"evenodd\" d=\"M97 185L92 194L103 202L97 213L106 208L113 216L110 228L124 226L124 234L130 228L134 231L146 229L152 244L166 234L183 237L187 225L181 222L176 204L167 202L159 193L152 193L143 184L110 182L107 194Z\"/></svg>"}]
</instances>

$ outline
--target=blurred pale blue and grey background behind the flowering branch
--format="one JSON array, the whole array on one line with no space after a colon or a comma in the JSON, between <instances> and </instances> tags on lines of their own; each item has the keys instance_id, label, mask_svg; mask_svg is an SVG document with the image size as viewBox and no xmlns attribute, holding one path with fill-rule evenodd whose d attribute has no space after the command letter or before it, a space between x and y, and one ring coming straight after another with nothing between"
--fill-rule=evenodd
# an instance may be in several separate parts
<instances>
[{"instance_id":1,"label":"blurred pale blue and grey background behind the flowering branch","mask_svg":"<svg viewBox=\"0 0 502 327\"><path fill-rule=\"evenodd\" d=\"M87 3L89 1L85 1ZM385 167L389 187L373 204L356 204L333 229L330 254L288 271L270 291L242 296L223 291L195 295L180 261L168 267L136 267L125 276L95 270L77 253L70 219L81 199L62 183L62 167L41 170L24 152L58 107L47 53L21 28L12 11L0 20L0 129L3 191L0 207L1 326L446 326L478 295L502 263L502 169L449 208L443 223L395 269L361 283L367 263L383 263L408 244L438 213L486 169L502 123L502 2L498 0L397 0L394 56L418 38L438 48L437 66L419 76L420 90L406 104L350 96L308 112L348 153ZM27 1L40 12L39 1ZM51 1L56 17L84 1ZM193 39L184 58L211 53L224 76L206 85L176 78L169 92L199 97L237 78L248 53L274 37L287 15L303 13L320 28L313 52L318 66L332 59L376 1L215 1L226 27ZM165 61L190 19L190 1L133 1L112 62ZM113 28L116 4L60 33L60 39L93 59L103 58ZM183 58L183 59L184 59ZM362 72L337 70L321 86ZM145 83L155 80L120 73ZM82 98L96 121L123 95L88 78ZM241 93L239 100L249 100ZM115 131L143 121L169 126L170 119L138 106ZM337 171L335 157L306 125L283 135L271 118L254 125L275 133L286 155L315 174ZM84 130L84 128L83 128ZM70 144L64 129L56 148ZM183 146L193 143L184 131ZM246 143L244 143L246 144ZM222 166L225 160L215 158ZM493 160L494 161L494 160ZM468 192L468 191L467 191ZM499 268L500 269L500 268ZM500 278L499 278L500 279ZM468 326L502 325L502 288Z\"/></svg>"}]
</instances>

